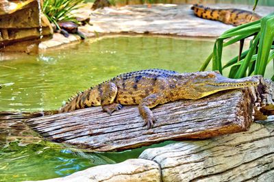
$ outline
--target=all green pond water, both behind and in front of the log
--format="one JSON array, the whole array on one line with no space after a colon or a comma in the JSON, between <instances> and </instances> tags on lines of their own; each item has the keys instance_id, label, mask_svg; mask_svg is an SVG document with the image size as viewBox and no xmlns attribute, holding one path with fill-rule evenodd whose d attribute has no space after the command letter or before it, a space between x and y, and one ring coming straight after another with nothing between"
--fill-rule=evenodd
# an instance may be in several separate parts
<instances>
[{"instance_id":1,"label":"all green pond water, both behind and in front of the log","mask_svg":"<svg viewBox=\"0 0 274 182\"><path fill-rule=\"evenodd\" d=\"M120 36L0 61L0 111L58 109L75 92L132 70L196 71L212 47L212 40ZM227 47L224 58L235 55L236 49ZM0 146L0 181L62 177L91 166L136 158L142 150L83 153L50 142L27 146L12 142Z\"/></svg>"}]
</instances>

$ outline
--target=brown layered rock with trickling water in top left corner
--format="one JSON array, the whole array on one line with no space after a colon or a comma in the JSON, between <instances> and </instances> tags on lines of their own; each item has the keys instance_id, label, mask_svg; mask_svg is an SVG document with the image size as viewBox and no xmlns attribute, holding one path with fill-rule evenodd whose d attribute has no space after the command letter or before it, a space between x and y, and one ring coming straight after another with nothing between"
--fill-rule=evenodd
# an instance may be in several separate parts
<instances>
[{"instance_id":1,"label":"brown layered rock with trickling water in top left corner","mask_svg":"<svg viewBox=\"0 0 274 182\"><path fill-rule=\"evenodd\" d=\"M41 18L41 19L39 19ZM0 50L33 53L53 29L36 0L0 2Z\"/></svg>"}]
</instances>

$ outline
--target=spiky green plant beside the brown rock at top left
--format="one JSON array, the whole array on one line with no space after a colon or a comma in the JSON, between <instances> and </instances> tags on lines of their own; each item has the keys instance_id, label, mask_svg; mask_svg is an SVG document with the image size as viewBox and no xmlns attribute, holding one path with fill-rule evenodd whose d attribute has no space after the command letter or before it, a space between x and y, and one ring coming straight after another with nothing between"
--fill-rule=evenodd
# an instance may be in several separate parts
<instances>
[{"instance_id":1,"label":"spiky green plant beside the brown rock at top left","mask_svg":"<svg viewBox=\"0 0 274 182\"><path fill-rule=\"evenodd\" d=\"M54 23L58 29L58 21L73 21L77 20L71 11L82 7L84 0L45 0L42 12L47 16L51 23Z\"/></svg>"}]
</instances>

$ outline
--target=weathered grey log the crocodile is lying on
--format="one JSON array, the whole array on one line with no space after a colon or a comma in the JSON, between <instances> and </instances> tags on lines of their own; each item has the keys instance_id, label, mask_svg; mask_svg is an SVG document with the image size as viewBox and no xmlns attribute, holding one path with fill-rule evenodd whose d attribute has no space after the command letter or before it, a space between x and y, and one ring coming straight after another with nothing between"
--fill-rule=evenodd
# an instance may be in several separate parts
<instances>
[{"instance_id":1,"label":"weathered grey log the crocodile is lying on","mask_svg":"<svg viewBox=\"0 0 274 182\"><path fill-rule=\"evenodd\" d=\"M90 151L121 151L164 140L210 138L249 129L253 117L274 114L274 83L260 79L256 88L220 92L197 101L177 101L153 109L153 129L142 127L136 106L112 116L101 107L27 120L27 125L53 142Z\"/></svg>"}]
</instances>

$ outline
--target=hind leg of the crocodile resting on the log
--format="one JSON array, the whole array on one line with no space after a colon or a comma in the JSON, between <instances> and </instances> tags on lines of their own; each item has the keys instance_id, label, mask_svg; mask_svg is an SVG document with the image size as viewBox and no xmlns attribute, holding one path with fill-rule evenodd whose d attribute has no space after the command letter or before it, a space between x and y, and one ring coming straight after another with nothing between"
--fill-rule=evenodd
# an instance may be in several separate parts
<instances>
[{"instance_id":1,"label":"hind leg of the crocodile resting on the log","mask_svg":"<svg viewBox=\"0 0 274 182\"><path fill-rule=\"evenodd\" d=\"M112 114L114 111L118 111L122 108L122 105L119 103L114 103L114 99L117 94L117 86L115 83L103 83L99 87L100 97L101 97L101 107L103 112L108 112L108 114Z\"/></svg>"}]
</instances>

